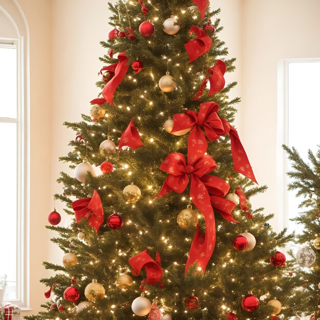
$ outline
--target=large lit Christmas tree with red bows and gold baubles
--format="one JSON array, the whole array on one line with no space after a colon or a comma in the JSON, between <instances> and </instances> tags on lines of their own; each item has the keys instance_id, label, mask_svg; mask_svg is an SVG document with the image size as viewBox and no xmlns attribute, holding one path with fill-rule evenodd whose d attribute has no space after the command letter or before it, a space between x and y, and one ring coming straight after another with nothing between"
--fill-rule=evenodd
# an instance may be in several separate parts
<instances>
[{"instance_id":1,"label":"large lit Christmas tree with red bows and gold baubles","mask_svg":"<svg viewBox=\"0 0 320 320\"><path fill-rule=\"evenodd\" d=\"M26 319L293 315L297 278L278 252L292 235L273 232L272 215L249 202L266 187L232 126L240 99L228 97L235 59L217 36L219 10L207 0L109 10L102 92L91 117L65 123L77 136L60 159L75 176L61 173L55 198L74 220L61 227L50 214L65 256L45 262L57 274L41 280L58 300Z\"/></svg>"}]
</instances>

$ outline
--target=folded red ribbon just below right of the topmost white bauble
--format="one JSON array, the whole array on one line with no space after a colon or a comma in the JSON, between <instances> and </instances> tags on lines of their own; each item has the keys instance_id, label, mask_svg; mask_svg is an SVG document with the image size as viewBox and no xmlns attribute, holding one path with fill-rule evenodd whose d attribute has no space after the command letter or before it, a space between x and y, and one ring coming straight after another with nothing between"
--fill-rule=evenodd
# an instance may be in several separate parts
<instances>
[{"instance_id":1,"label":"folded red ribbon just below right of the topmost white bauble","mask_svg":"<svg viewBox=\"0 0 320 320\"><path fill-rule=\"evenodd\" d=\"M192 62L210 50L212 40L207 32L197 26L192 26L189 33L194 33L197 36L196 39L189 40L185 43L185 48L189 54L189 62Z\"/></svg>"}]
</instances>

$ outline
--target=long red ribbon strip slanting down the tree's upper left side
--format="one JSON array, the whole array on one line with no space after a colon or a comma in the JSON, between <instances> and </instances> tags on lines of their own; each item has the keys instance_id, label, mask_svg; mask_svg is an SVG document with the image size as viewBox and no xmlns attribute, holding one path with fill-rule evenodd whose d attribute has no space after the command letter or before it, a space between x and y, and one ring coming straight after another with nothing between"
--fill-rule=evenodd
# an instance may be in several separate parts
<instances>
[{"instance_id":1,"label":"long red ribbon strip slanting down the tree's upper left side","mask_svg":"<svg viewBox=\"0 0 320 320\"><path fill-rule=\"evenodd\" d=\"M106 83L102 90L103 98L110 104L113 104L113 95L115 94L116 89L123 80L129 68L129 65L127 64L129 59L127 58L125 52L122 52L118 55L118 60L119 62L115 68L115 76L108 83Z\"/></svg>"}]
</instances>

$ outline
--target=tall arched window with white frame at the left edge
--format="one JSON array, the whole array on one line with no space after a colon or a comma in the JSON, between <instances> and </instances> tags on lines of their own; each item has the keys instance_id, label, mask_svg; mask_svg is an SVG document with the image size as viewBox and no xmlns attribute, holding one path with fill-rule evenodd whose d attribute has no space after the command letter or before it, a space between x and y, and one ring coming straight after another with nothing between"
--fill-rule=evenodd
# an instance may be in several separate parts
<instances>
[{"instance_id":1,"label":"tall arched window with white frame at the left edge","mask_svg":"<svg viewBox=\"0 0 320 320\"><path fill-rule=\"evenodd\" d=\"M0 0L0 277L5 301L28 305L29 32L16 0Z\"/></svg>"}]
</instances>

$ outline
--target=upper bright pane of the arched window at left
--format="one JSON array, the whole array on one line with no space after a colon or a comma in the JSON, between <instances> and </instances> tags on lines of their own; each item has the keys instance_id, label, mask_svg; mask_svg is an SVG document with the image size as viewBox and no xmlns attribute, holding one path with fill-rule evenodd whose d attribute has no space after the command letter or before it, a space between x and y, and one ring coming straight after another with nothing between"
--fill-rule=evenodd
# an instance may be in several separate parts
<instances>
[{"instance_id":1,"label":"upper bright pane of the arched window at left","mask_svg":"<svg viewBox=\"0 0 320 320\"><path fill-rule=\"evenodd\" d=\"M0 44L0 118L17 118L17 50Z\"/></svg>"}]
</instances>

